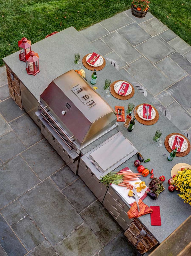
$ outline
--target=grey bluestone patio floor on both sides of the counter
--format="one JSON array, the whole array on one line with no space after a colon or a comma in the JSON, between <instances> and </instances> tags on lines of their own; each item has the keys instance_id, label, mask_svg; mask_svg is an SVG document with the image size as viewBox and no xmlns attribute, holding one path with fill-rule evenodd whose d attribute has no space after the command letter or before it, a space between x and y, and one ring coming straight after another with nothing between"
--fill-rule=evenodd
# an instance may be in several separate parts
<instances>
[{"instance_id":1,"label":"grey bluestone patio floor on both sides of the counter","mask_svg":"<svg viewBox=\"0 0 191 256\"><path fill-rule=\"evenodd\" d=\"M191 126L191 47L152 14L131 11L80 33L132 84ZM99 79L99 73L98 73ZM9 97L0 68L0 255L138 256L123 230ZM146 254L145 254L146 255Z\"/></svg>"}]
</instances>

